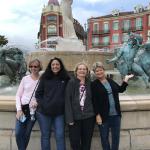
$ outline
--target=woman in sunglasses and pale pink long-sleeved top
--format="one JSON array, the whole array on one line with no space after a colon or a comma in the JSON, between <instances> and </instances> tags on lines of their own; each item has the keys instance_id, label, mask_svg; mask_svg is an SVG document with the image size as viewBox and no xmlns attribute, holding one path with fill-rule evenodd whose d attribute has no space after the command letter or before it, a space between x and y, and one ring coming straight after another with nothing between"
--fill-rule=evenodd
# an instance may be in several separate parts
<instances>
[{"instance_id":1,"label":"woman in sunglasses and pale pink long-sleeved top","mask_svg":"<svg viewBox=\"0 0 150 150\"><path fill-rule=\"evenodd\" d=\"M38 59L30 61L29 71L31 74L22 78L16 94L17 120L15 134L19 150L26 150L35 123L35 120L31 120L30 117L27 117L24 123L21 122L23 116L22 105L30 103L30 111L35 110L37 103L33 91L38 83L40 70L42 70L42 65Z\"/></svg>"}]
</instances>

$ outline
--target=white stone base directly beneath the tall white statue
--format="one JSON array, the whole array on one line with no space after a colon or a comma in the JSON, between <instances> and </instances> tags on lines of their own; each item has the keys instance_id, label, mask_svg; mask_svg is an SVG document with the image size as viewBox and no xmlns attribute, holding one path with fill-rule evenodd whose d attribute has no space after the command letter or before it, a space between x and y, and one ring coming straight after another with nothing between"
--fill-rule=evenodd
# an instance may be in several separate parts
<instances>
[{"instance_id":1,"label":"white stone base directly beneath the tall white statue","mask_svg":"<svg viewBox=\"0 0 150 150\"><path fill-rule=\"evenodd\" d=\"M59 38L56 51L85 51L81 40L75 38Z\"/></svg>"}]
</instances>

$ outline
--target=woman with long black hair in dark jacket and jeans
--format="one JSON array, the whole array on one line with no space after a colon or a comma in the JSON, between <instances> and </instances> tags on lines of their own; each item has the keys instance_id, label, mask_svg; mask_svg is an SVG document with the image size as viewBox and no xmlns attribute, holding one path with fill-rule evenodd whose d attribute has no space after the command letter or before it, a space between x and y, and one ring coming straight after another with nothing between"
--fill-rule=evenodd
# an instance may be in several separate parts
<instances>
[{"instance_id":1,"label":"woman with long black hair in dark jacket and jeans","mask_svg":"<svg viewBox=\"0 0 150 150\"><path fill-rule=\"evenodd\" d=\"M40 79L35 97L38 102L37 119L41 130L41 149L50 150L54 127L57 150L65 150L64 92L69 76L61 59L52 58Z\"/></svg>"}]
</instances>

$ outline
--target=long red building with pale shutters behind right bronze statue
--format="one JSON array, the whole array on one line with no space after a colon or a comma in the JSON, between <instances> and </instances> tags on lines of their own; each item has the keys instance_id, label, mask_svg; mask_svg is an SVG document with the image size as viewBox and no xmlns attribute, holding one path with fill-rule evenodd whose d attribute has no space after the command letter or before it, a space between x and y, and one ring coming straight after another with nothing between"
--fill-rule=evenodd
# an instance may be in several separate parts
<instances>
[{"instance_id":1,"label":"long red building with pale shutters behind right bronze statue","mask_svg":"<svg viewBox=\"0 0 150 150\"><path fill-rule=\"evenodd\" d=\"M129 32L143 37L143 42L150 36L150 6L138 5L134 11L119 12L88 19L88 49L112 50L128 39Z\"/></svg>"}]
</instances>

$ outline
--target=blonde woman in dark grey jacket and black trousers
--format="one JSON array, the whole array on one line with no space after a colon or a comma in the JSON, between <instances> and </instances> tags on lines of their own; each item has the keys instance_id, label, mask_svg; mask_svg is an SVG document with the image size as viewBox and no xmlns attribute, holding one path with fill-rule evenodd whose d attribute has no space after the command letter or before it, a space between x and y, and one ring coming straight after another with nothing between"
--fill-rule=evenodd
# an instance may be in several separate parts
<instances>
[{"instance_id":1,"label":"blonde woman in dark grey jacket and black trousers","mask_svg":"<svg viewBox=\"0 0 150 150\"><path fill-rule=\"evenodd\" d=\"M65 117L73 150L90 150L91 147L95 115L87 76L86 64L77 64L75 78L68 82L66 88Z\"/></svg>"}]
</instances>

